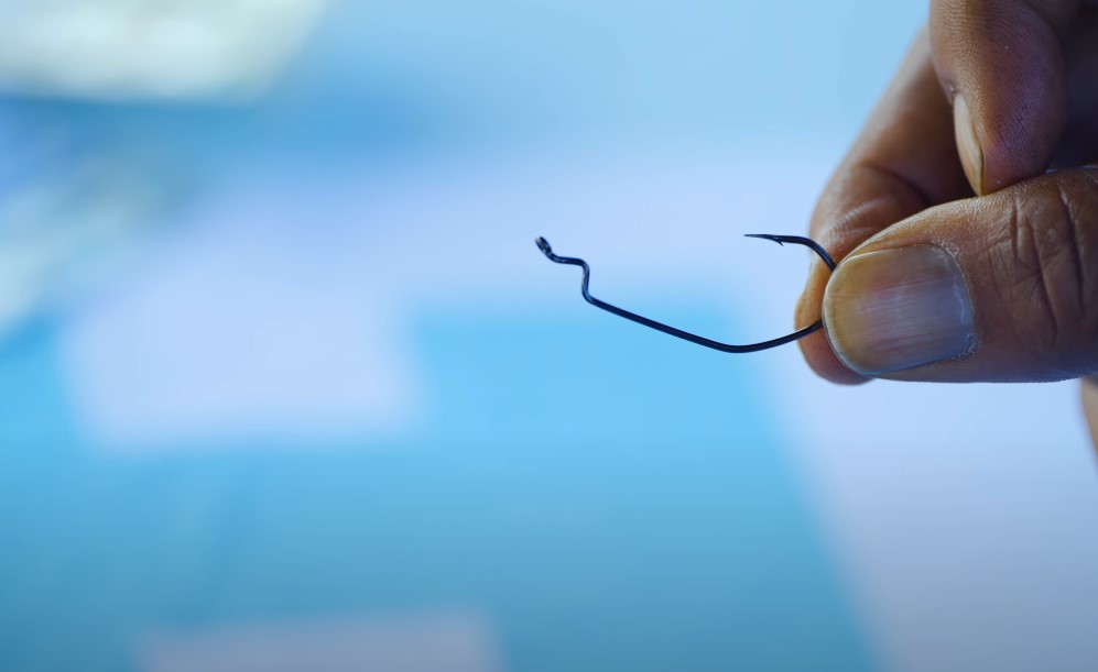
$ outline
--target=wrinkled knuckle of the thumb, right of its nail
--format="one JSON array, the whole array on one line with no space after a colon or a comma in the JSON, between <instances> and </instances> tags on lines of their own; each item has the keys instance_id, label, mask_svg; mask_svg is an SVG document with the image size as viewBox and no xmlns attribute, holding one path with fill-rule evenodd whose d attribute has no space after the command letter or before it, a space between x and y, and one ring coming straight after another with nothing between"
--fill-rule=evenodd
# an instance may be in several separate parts
<instances>
[{"instance_id":1,"label":"wrinkled knuckle of the thumb, right of its nail","mask_svg":"<svg viewBox=\"0 0 1098 672\"><path fill-rule=\"evenodd\" d=\"M1098 173L1034 180L1003 194L992 282L1018 342L1075 375L1098 343Z\"/></svg>"}]
</instances>

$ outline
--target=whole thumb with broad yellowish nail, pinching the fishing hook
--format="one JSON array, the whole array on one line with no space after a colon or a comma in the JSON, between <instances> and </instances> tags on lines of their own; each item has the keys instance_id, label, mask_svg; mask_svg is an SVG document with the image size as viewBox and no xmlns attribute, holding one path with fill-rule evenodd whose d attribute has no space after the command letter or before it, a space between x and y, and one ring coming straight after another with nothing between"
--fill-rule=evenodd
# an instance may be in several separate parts
<instances>
[{"instance_id":1,"label":"whole thumb with broad yellowish nail, pinching the fishing hook","mask_svg":"<svg viewBox=\"0 0 1098 672\"><path fill-rule=\"evenodd\" d=\"M938 206L847 256L827 338L866 376L1058 381L1098 372L1098 169Z\"/></svg>"}]
</instances>

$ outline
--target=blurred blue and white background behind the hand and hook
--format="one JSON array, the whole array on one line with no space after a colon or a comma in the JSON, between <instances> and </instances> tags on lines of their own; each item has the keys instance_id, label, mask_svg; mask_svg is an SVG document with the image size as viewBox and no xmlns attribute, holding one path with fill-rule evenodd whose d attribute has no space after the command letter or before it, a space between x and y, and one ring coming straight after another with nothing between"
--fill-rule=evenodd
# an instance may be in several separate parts
<instances>
[{"instance_id":1,"label":"blurred blue and white background behind the hand and hook","mask_svg":"<svg viewBox=\"0 0 1098 672\"><path fill-rule=\"evenodd\" d=\"M0 669L1092 670L1072 384L848 389L918 0L0 0Z\"/></svg>"}]
</instances>

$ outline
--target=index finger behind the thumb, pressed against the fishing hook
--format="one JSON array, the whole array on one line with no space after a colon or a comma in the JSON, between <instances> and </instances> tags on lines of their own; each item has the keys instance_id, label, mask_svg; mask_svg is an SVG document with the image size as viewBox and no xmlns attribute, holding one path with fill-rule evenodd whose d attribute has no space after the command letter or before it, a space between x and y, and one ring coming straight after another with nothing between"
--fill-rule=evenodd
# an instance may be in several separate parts
<instances>
[{"instance_id":1,"label":"index finger behind the thumb, pressed against the fishing hook","mask_svg":"<svg viewBox=\"0 0 1098 672\"><path fill-rule=\"evenodd\" d=\"M812 236L841 260L866 239L925 208L970 195L953 140L949 104L921 35L861 136L831 177L812 217ZM819 319L830 272L813 265L797 324ZM801 342L809 366L835 383L857 384L817 332Z\"/></svg>"}]
</instances>

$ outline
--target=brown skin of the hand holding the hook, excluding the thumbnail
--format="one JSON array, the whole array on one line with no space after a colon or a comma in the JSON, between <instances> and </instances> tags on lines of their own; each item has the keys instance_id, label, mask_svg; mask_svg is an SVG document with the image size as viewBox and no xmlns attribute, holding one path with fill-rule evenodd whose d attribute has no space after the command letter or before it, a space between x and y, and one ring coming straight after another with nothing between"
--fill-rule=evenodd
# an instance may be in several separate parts
<instances>
[{"instance_id":1,"label":"brown skin of the hand holding the hook, excluding the thumbnail","mask_svg":"<svg viewBox=\"0 0 1098 672\"><path fill-rule=\"evenodd\" d=\"M935 245L964 273L972 350L880 377L1084 378L1098 444L1098 377L1086 379L1098 373L1098 168L1084 167L1098 161L1092 5L933 1L926 30L825 188L811 234L836 260ZM830 278L814 265L798 324L819 319ZM833 327L801 341L805 359L829 381L865 383L836 356Z\"/></svg>"}]
</instances>

